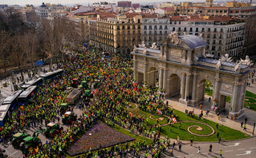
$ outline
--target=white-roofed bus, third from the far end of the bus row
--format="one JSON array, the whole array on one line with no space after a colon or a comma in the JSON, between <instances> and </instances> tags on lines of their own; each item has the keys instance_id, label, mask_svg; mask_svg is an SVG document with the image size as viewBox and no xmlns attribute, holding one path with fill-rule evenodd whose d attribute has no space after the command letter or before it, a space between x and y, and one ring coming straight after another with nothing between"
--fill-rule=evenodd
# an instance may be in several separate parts
<instances>
[{"instance_id":1,"label":"white-roofed bus, third from the far end of the bus row","mask_svg":"<svg viewBox=\"0 0 256 158\"><path fill-rule=\"evenodd\" d=\"M18 96L18 105L27 105L35 95L36 85L32 85Z\"/></svg>"}]
</instances>

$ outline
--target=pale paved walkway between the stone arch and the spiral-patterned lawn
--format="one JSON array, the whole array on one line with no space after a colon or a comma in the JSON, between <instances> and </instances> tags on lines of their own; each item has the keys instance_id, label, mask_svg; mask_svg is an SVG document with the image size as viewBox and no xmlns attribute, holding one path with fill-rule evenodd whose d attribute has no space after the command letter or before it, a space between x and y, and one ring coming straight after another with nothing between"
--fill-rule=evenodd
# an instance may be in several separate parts
<instances>
[{"instance_id":1,"label":"pale paved walkway between the stone arch and the spiral-patterned lawn","mask_svg":"<svg viewBox=\"0 0 256 158\"><path fill-rule=\"evenodd\" d=\"M207 100L207 98L205 98L205 100ZM194 109L194 113L198 116L201 113L201 109L199 106L187 106L187 105L183 105L180 102L177 101L173 101L173 100L169 100L166 99L165 101L169 101L169 106L171 106L173 109L177 109L179 111L181 111L182 113L185 113L185 109L188 109L189 111L193 111ZM205 101L205 104L203 105L203 113L204 113L204 118L208 119L208 120L212 120L218 124L222 124L225 125L227 127L230 128L234 128L238 131L244 132L246 134L252 135L253 132L253 125L251 124L247 124L247 131L244 131L243 128L241 128L241 122L244 121L242 118L238 119L238 120L231 120L230 118L226 118L227 115L221 115L221 119L218 120L217 115L215 113L209 113L209 116L205 116L205 112L207 111L207 109L210 109L210 104L208 103L208 101ZM226 106L228 107L228 106ZM245 115L246 113L248 113L248 109L245 109ZM256 116L256 112L253 110L250 110L250 115ZM248 118L248 117L247 117ZM250 118L248 118L249 120ZM256 118L254 117L254 122L256 122ZM254 131L256 133L256 131Z\"/></svg>"}]
</instances>

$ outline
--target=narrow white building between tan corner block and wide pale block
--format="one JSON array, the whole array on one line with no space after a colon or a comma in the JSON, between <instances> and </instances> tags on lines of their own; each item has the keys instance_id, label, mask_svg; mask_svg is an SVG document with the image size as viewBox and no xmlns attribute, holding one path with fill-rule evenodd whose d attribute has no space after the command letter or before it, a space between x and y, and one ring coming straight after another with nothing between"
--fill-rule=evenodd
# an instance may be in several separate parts
<instances>
[{"instance_id":1,"label":"narrow white building between tan corner block and wide pale block","mask_svg":"<svg viewBox=\"0 0 256 158\"><path fill-rule=\"evenodd\" d=\"M142 41L147 46L156 45L167 38L169 34L169 18L157 17L157 14L141 14L142 15Z\"/></svg>"}]
</instances>

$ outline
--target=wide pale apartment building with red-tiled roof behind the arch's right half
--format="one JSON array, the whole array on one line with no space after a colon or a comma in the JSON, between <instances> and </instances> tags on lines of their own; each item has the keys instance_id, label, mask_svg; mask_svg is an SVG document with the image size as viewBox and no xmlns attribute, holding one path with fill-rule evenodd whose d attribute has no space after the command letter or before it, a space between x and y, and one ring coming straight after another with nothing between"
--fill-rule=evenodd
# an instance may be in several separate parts
<instances>
[{"instance_id":1,"label":"wide pale apartment building with red-tiled roof behind the arch's right half","mask_svg":"<svg viewBox=\"0 0 256 158\"><path fill-rule=\"evenodd\" d=\"M171 32L176 30L180 35L201 35L208 43L205 52L209 57L219 58L225 53L238 57L245 44L245 22L238 18L173 16L169 27Z\"/></svg>"}]
</instances>

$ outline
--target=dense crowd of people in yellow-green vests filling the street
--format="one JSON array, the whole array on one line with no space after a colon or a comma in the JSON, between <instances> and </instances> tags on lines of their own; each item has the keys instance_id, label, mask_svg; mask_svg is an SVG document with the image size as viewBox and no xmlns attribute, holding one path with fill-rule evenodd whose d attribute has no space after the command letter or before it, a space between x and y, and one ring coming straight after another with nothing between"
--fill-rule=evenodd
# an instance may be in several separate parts
<instances>
[{"instance_id":1,"label":"dense crowd of people in yellow-green vests filling the street","mask_svg":"<svg viewBox=\"0 0 256 158\"><path fill-rule=\"evenodd\" d=\"M74 52L71 58L58 64L58 68L63 69L62 75L44 81L30 104L20 106L17 111L9 114L0 131L1 140L10 141L16 132L26 132L26 129L42 127L49 122L60 123L59 105L66 101L69 93L66 89L71 86L72 79L77 78L79 81L87 81L93 95L89 100L87 98L81 102L83 114L67 130L43 144L43 148L35 148L24 157L63 157L77 137L98 120L112 126L118 124L130 132L144 133L144 136L153 138L154 143L147 145L144 140L139 140L132 144L119 144L116 148L100 148L99 151L90 151L79 157L115 157L115 154L125 156L126 153L139 156L141 149L145 150L146 157L149 151L153 157L160 157L161 152L169 152L170 141L168 138L161 140L159 121L150 127L148 119L132 116L127 110L129 102L134 102L147 113L177 117L168 108L168 103L161 100L161 94L157 94L158 89L146 88L133 82L131 56L104 53L93 46L75 49ZM95 81L100 81L100 86L95 88Z\"/></svg>"}]
</instances>

